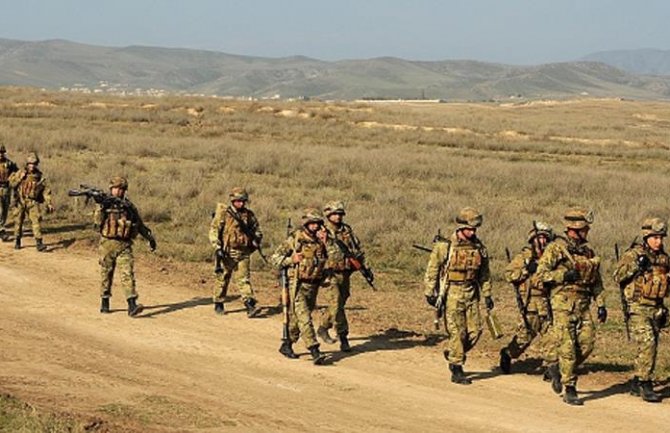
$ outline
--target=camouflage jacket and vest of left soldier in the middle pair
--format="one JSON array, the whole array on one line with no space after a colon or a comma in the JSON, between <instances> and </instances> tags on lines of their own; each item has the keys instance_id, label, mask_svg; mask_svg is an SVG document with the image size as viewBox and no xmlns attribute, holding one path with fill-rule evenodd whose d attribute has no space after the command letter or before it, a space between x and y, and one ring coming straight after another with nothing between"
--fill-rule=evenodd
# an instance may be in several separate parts
<instances>
[{"instance_id":1,"label":"camouflage jacket and vest of left soldier in the middle pair","mask_svg":"<svg viewBox=\"0 0 670 433\"><path fill-rule=\"evenodd\" d=\"M317 281L326 275L326 262L328 252L332 250L332 239L330 237L324 244L311 234L307 229L301 228L291 235L277 247L270 258L270 262L277 269L289 268L289 275L300 280ZM302 254L302 260L294 264L293 254Z\"/></svg>"}]
</instances>

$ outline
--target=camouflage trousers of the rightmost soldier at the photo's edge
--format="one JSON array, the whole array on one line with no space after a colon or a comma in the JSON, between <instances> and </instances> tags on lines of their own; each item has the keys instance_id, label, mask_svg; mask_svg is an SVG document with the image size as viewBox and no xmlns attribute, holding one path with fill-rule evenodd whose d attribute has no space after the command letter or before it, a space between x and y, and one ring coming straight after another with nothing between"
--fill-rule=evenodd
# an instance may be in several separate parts
<instances>
[{"instance_id":1,"label":"camouflage trousers of the rightmost soldier at the photo's edge","mask_svg":"<svg viewBox=\"0 0 670 433\"><path fill-rule=\"evenodd\" d=\"M659 326L655 314L659 308L653 305L630 305L630 333L635 342L637 356L635 357L635 376L640 380L652 380L656 368L658 352Z\"/></svg>"}]
</instances>

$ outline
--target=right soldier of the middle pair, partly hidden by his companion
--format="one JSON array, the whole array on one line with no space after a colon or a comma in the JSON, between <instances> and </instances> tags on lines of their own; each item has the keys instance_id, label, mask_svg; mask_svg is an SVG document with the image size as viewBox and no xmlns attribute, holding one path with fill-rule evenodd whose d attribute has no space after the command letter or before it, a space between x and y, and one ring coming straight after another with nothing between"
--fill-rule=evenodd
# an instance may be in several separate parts
<instances>
[{"instance_id":1,"label":"right soldier of the middle pair, partly hidden by his companion","mask_svg":"<svg viewBox=\"0 0 670 433\"><path fill-rule=\"evenodd\" d=\"M349 260L345 257L345 252L353 254L363 260L364 254L360 247L360 242L354 235L351 226L342 220L344 215L344 203L334 201L328 203L323 208L326 217L325 228L333 241L340 241L342 244L333 248L329 253L326 269L328 269L330 278L321 287L320 291L325 298L326 309L321 318L321 325L317 329L317 334L324 343L334 344L335 340L329 335L328 330L332 327L340 340L340 350L350 352L349 345L349 323L344 307L350 295L351 273L353 272ZM346 249L346 251L345 251Z\"/></svg>"}]
</instances>

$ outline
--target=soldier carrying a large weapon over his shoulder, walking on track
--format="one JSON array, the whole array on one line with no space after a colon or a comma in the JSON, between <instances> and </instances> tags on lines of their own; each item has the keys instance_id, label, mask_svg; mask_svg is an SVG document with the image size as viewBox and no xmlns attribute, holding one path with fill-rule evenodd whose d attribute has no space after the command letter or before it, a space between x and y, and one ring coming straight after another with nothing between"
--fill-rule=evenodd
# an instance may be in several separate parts
<instances>
[{"instance_id":1,"label":"soldier carrying a large weapon over his shoulder, walking on track","mask_svg":"<svg viewBox=\"0 0 670 433\"><path fill-rule=\"evenodd\" d=\"M114 271L121 273L123 286L128 302L128 315L137 316L142 312L142 305L137 303L135 290L135 272L133 258L133 240L142 235L149 241L151 251L156 250L156 240L151 230L142 222L135 205L126 198L128 181L119 176L109 182L111 197L103 200L94 215L94 224L100 231L100 312L109 313L109 298L112 296L112 280Z\"/></svg>"}]
</instances>

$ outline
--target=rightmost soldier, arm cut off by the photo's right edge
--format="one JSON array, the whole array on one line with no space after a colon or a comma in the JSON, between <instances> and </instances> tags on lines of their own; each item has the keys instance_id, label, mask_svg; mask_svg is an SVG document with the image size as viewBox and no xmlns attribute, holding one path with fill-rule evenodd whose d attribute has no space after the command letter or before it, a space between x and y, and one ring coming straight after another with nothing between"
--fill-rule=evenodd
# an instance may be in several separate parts
<instances>
[{"instance_id":1,"label":"rightmost soldier, arm cut off by the photo's right edge","mask_svg":"<svg viewBox=\"0 0 670 433\"><path fill-rule=\"evenodd\" d=\"M668 325L668 309L663 298L668 296L670 257L663 249L668 226L660 218L647 218L642 223L642 242L634 243L617 263L614 280L623 288L628 301L629 326L635 340L635 376L630 393L644 401L658 403L652 376L656 367L660 330Z\"/></svg>"}]
</instances>

